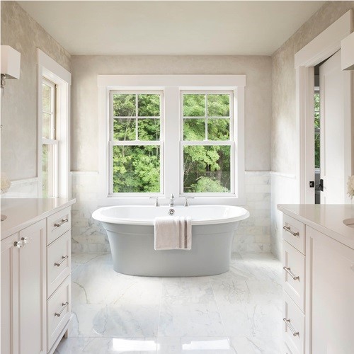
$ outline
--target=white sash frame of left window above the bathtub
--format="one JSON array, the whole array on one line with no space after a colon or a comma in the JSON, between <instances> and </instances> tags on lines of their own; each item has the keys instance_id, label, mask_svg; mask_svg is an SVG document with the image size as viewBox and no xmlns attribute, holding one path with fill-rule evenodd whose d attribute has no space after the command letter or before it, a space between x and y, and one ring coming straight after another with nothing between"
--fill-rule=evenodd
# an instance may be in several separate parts
<instances>
[{"instance_id":1,"label":"white sash frame of left window above the bathtub","mask_svg":"<svg viewBox=\"0 0 354 354\"><path fill-rule=\"evenodd\" d=\"M156 140L114 140L113 139L113 120L115 117L113 116L113 95L115 93L121 94L159 94L160 95L160 139ZM136 105L138 102L136 102ZM137 112L137 110L136 110ZM136 116L137 119L139 117ZM147 117L148 118L148 117ZM154 118L154 117L152 117ZM123 118L124 119L124 118ZM142 117L140 117L142 119ZM156 119L156 118L155 118ZM135 90L135 91L117 91L112 90L110 91L110 151L109 151L109 174L108 174L108 195L115 198L121 197L130 197L135 196L139 197L141 195L145 195L147 197L153 195L164 195L164 91L161 90ZM137 130L137 126L136 126ZM137 131L136 131L137 135ZM160 192L159 193L113 193L113 147L114 146L148 146L148 145L158 145L160 147Z\"/></svg>"}]
</instances>

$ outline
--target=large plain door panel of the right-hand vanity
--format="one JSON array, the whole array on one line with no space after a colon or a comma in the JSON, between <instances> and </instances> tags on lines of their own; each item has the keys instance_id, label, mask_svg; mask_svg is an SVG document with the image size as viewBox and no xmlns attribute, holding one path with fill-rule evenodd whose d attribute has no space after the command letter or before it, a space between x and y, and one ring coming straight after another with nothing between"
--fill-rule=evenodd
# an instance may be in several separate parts
<instances>
[{"instance_id":1,"label":"large plain door panel of the right-hand vanity","mask_svg":"<svg viewBox=\"0 0 354 354\"><path fill-rule=\"evenodd\" d=\"M312 353L353 354L354 250L308 228Z\"/></svg>"}]
</instances>

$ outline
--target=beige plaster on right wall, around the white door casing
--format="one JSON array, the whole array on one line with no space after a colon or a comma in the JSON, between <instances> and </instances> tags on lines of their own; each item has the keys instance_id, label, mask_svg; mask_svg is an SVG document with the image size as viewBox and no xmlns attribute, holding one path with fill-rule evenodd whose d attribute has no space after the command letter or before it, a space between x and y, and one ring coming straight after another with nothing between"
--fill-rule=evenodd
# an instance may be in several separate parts
<instances>
[{"instance_id":1,"label":"beige plaster on right wall, around the white door casing","mask_svg":"<svg viewBox=\"0 0 354 354\"><path fill-rule=\"evenodd\" d=\"M298 155L295 149L298 137L295 132L294 55L350 8L354 8L354 1L329 1L324 4L272 56L272 171L296 173L296 159L293 158Z\"/></svg>"}]
</instances>

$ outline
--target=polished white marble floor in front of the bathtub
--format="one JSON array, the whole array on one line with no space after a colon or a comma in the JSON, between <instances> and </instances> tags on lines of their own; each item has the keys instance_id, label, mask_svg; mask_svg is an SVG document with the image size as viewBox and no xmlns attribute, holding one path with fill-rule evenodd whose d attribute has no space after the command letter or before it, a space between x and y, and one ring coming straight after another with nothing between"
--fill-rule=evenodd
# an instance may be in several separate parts
<instances>
[{"instance_id":1,"label":"polished white marble floor in front of the bathtub","mask_svg":"<svg viewBox=\"0 0 354 354\"><path fill-rule=\"evenodd\" d=\"M271 254L232 256L210 277L115 273L110 253L72 256L69 338L55 354L279 354L282 268Z\"/></svg>"}]
</instances>

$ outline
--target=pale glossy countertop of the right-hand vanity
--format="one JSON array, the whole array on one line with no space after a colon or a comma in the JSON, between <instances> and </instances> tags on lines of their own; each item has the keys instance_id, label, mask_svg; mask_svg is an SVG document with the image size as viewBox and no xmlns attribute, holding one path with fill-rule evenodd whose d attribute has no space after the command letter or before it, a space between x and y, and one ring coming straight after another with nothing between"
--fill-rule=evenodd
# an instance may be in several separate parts
<instances>
[{"instance_id":1,"label":"pale glossy countertop of the right-hand vanity","mask_svg":"<svg viewBox=\"0 0 354 354\"><path fill-rule=\"evenodd\" d=\"M279 204L278 210L354 249L354 229L343 224L354 218L354 205Z\"/></svg>"}]
</instances>

